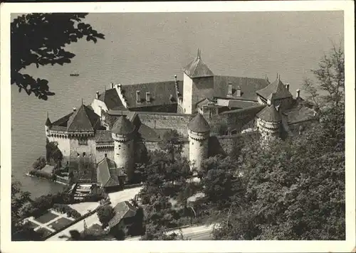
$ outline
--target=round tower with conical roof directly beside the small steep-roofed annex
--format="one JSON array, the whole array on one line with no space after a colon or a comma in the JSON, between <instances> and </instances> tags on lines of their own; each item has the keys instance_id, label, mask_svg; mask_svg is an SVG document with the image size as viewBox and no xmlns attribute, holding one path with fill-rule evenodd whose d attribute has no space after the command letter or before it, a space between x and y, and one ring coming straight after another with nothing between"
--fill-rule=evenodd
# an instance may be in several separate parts
<instances>
[{"instance_id":1,"label":"round tower with conical roof directly beside the small steep-roofed annex","mask_svg":"<svg viewBox=\"0 0 356 253\"><path fill-rule=\"evenodd\" d=\"M135 169L135 126L122 115L112 126L111 131L112 139L114 139L114 160L116 166L117 168L123 168L127 175L127 181L131 181Z\"/></svg>"}]
</instances>

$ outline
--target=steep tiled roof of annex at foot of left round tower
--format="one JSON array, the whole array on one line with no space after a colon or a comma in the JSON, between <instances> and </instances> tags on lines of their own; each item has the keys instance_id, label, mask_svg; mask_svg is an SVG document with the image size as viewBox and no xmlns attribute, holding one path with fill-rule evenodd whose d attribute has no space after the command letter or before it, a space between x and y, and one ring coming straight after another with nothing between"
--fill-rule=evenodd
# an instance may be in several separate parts
<instances>
[{"instance_id":1,"label":"steep tiled roof of annex at foot of left round tower","mask_svg":"<svg viewBox=\"0 0 356 253\"><path fill-rule=\"evenodd\" d=\"M103 187L120 185L119 176L125 176L121 168L116 168L115 162L105 157L98 163L97 178L98 183Z\"/></svg>"}]
</instances>

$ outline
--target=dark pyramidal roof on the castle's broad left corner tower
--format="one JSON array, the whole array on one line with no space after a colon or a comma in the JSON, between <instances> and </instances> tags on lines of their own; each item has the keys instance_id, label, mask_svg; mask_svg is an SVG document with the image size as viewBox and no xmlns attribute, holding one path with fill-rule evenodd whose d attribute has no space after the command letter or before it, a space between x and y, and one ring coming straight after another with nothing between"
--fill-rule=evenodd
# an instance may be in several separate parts
<instances>
[{"instance_id":1,"label":"dark pyramidal roof on the castle's broad left corner tower","mask_svg":"<svg viewBox=\"0 0 356 253\"><path fill-rule=\"evenodd\" d=\"M67 131L94 131L99 128L100 117L84 104L73 112L67 123Z\"/></svg>"}]
</instances>

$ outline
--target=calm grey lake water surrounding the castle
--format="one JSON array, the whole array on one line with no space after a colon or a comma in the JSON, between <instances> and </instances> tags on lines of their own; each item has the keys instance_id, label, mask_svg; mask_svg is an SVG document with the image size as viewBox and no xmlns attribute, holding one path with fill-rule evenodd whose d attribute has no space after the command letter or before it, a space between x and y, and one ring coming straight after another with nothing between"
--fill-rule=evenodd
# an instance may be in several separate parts
<instances>
[{"instance_id":1,"label":"calm grey lake water surrounding the castle","mask_svg":"<svg viewBox=\"0 0 356 253\"><path fill-rule=\"evenodd\" d=\"M110 82L132 84L182 80L182 68L201 49L215 74L244 77L281 75L290 90L301 87L310 69L343 38L342 12L89 14L86 22L105 40L69 45L75 58L68 65L32 66L26 72L46 78L54 97L42 101L11 88L12 175L33 197L54 193L62 185L25 176L45 154L46 112L53 121L90 104ZM78 72L78 77L70 73ZM303 92L302 92L303 95Z\"/></svg>"}]
</instances>

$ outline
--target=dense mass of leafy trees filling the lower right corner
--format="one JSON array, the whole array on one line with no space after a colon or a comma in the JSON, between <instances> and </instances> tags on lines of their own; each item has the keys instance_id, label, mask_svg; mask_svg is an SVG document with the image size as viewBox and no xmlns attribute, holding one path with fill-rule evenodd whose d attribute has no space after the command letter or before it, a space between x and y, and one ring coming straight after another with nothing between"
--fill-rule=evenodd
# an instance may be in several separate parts
<instances>
[{"instance_id":1,"label":"dense mass of leafy trees filling the lower right corner","mask_svg":"<svg viewBox=\"0 0 356 253\"><path fill-rule=\"evenodd\" d=\"M345 120L332 104L298 139L243 154L245 196L216 239L345 239Z\"/></svg>"}]
</instances>

